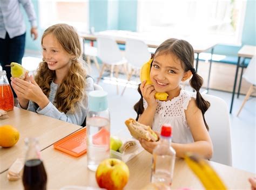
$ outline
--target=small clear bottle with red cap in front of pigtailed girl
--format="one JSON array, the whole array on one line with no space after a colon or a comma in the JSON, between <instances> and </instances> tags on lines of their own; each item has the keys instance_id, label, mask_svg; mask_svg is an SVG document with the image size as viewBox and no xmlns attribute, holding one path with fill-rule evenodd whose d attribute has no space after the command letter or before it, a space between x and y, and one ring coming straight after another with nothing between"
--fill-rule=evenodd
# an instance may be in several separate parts
<instances>
[{"instance_id":1,"label":"small clear bottle with red cap in front of pigtailed girl","mask_svg":"<svg viewBox=\"0 0 256 190\"><path fill-rule=\"evenodd\" d=\"M172 184L176 151L171 146L172 128L164 124L161 128L160 144L153 150L151 182Z\"/></svg>"}]
</instances>

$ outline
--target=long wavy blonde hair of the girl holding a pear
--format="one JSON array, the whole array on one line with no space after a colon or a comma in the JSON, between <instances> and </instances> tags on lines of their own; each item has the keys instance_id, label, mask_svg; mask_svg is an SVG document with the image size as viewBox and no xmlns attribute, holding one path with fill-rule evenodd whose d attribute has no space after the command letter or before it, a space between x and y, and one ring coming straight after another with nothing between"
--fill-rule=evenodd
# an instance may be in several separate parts
<instances>
[{"instance_id":1,"label":"long wavy blonde hair of the girl holding a pear","mask_svg":"<svg viewBox=\"0 0 256 190\"><path fill-rule=\"evenodd\" d=\"M74 112L75 104L81 101L85 96L84 89L86 86L86 69L85 62L81 57L82 50L79 36L72 26L68 24L56 24L44 31L41 44L43 44L43 39L48 34L53 34L58 40L58 43L62 45L64 50L72 57L69 72L58 87L55 96L55 104L57 109L61 112ZM49 97L50 85L55 79L55 75L55 71L51 71L46 61L43 59L37 69L35 81L47 97Z\"/></svg>"}]
</instances>

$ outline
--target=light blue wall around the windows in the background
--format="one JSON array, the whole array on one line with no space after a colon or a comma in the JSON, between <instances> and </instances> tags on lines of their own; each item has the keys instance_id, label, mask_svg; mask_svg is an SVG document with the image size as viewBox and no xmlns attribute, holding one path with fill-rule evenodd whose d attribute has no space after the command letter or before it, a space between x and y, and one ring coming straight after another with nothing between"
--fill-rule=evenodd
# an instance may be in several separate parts
<instances>
[{"instance_id":1,"label":"light blue wall around the windows in the background","mask_svg":"<svg viewBox=\"0 0 256 190\"><path fill-rule=\"evenodd\" d=\"M37 16L38 1L32 0ZM90 0L90 27L95 31L103 30L137 30L137 0ZM244 27L242 29L242 45L256 45L255 31L255 9L256 1L247 0ZM26 17L26 16L25 16ZM27 18L27 17L26 17ZM27 34L26 48L29 50L41 50L40 38L43 33L39 29L39 39L33 41L30 37L30 25L26 19ZM214 48L215 54L236 56L240 46L217 45Z\"/></svg>"}]
</instances>

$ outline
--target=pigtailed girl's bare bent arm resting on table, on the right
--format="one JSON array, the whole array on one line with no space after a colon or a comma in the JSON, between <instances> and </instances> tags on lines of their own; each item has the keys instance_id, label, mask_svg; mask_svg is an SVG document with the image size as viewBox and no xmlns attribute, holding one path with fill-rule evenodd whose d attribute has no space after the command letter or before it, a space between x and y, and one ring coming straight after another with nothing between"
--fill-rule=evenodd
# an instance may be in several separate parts
<instances>
[{"instance_id":1,"label":"pigtailed girl's bare bent arm resting on table, on the right","mask_svg":"<svg viewBox=\"0 0 256 190\"><path fill-rule=\"evenodd\" d=\"M194 143L172 143L176 155L183 158L186 152L198 153L206 159L210 159L213 153L212 140L206 129L201 110L197 107L196 100L191 98L185 110L186 120L192 133Z\"/></svg>"}]
</instances>

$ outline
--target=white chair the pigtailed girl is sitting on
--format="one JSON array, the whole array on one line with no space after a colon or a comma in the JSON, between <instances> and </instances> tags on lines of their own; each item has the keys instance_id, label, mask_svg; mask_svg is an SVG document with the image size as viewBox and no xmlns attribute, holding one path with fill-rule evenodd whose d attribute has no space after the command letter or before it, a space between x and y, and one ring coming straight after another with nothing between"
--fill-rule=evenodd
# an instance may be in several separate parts
<instances>
[{"instance_id":1,"label":"white chair the pigtailed girl is sitting on","mask_svg":"<svg viewBox=\"0 0 256 190\"><path fill-rule=\"evenodd\" d=\"M196 93L191 93L196 96ZM202 94L203 98L211 103L205 112L205 121L209 127L209 135L213 144L212 161L232 166L232 149L230 134L230 118L226 102L208 94Z\"/></svg>"}]
</instances>

